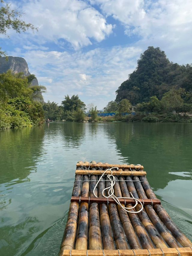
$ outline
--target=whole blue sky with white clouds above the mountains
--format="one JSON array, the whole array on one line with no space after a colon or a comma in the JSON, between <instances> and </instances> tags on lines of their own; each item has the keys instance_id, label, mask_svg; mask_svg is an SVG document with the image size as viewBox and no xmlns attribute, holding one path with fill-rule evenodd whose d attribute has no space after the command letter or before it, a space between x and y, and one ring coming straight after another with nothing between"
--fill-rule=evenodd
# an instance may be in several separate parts
<instances>
[{"instance_id":1,"label":"whole blue sky with white clouds above the mountains","mask_svg":"<svg viewBox=\"0 0 192 256\"><path fill-rule=\"evenodd\" d=\"M17 0L11 6L38 32L8 31L0 46L26 60L47 88L46 102L78 94L103 109L149 46L170 61L192 63L191 0Z\"/></svg>"}]
</instances>

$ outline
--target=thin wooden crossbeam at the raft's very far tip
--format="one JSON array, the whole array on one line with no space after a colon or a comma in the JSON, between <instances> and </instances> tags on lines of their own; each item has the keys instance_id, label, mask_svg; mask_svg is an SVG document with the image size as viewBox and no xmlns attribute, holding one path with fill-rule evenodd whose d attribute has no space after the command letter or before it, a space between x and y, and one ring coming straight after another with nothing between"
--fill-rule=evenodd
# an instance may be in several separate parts
<instances>
[{"instance_id":1,"label":"thin wooden crossbeam at the raft's very far tip","mask_svg":"<svg viewBox=\"0 0 192 256\"><path fill-rule=\"evenodd\" d=\"M77 167L90 167L90 168L95 168L95 167L100 167L100 168L112 168L112 167L118 167L121 169L134 169L134 170L143 170L144 167L143 165L134 165L134 164L79 164L77 163Z\"/></svg>"}]
</instances>

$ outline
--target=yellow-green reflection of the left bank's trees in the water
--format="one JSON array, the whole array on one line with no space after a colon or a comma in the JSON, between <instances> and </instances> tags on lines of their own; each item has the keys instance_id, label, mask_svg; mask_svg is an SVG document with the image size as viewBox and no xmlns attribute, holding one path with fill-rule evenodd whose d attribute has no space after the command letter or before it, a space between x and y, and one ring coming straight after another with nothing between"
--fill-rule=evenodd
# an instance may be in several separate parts
<instances>
[{"instance_id":1,"label":"yellow-green reflection of the left bank's trees in the water","mask_svg":"<svg viewBox=\"0 0 192 256\"><path fill-rule=\"evenodd\" d=\"M43 126L0 131L1 183L22 182L36 170L35 159L41 155L43 136Z\"/></svg>"}]
</instances>

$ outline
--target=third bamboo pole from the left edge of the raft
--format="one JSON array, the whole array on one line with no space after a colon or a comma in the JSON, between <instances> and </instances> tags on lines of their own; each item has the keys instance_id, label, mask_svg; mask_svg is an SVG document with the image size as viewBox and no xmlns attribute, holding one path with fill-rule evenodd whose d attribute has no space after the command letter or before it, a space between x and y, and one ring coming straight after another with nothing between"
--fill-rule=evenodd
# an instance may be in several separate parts
<instances>
[{"instance_id":1,"label":"third bamboo pole from the left edge of the raft","mask_svg":"<svg viewBox=\"0 0 192 256\"><path fill-rule=\"evenodd\" d=\"M91 164L96 164L96 162L91 161ZM96 168L91 168L91 170L96 170ZM89 196L93 197L93 189L97 184L97 176L91 175L90 180ZM97 188L95 189L95 194L98 196ZM98 203L91 203L89 206L89 250L101 249L103 249L103 245L101 238L99 206Z\"/></svg>"}]
</instances>

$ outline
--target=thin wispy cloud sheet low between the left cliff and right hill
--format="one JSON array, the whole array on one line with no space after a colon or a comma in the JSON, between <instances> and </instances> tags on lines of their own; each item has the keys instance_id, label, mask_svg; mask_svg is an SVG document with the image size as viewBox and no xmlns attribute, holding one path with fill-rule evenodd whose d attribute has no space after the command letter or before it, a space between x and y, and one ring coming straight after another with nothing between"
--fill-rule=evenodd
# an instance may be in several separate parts
<instances>
[{"instance_id":1,"label":"thin wispy cloud sheet low between the left cliff and right hill","mask_svg":"<svg viewBox=\"0 0 192 256\"><path fill-rule=\"evenodd\" d=\"M47 87L45 101L60 104L64 95L79 94L86 104L94 102L102 109L115 99L116 89L134 70L141 52L140 47L112 47L86 53L32 50L20 56Z\"/></svg>"}]
</instances>

